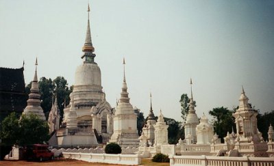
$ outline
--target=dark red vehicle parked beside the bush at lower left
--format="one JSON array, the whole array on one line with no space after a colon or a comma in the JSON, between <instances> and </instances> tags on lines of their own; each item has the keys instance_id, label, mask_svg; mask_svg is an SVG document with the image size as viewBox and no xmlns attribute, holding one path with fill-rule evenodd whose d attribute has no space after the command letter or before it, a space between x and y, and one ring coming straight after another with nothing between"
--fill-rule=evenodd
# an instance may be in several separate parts
<instances>
[{"instance_id":1,"label":"dark red vehicle parked beside the bush at lower left","mask_svg":"<svg viewBox=\"0 0 274 166\"><path fill-rule=\"evenodd\" d=\"M48 145L34 144L32 146L27 146L25 151L27 160L38 159L39 161L43 160L52 160L54 158L54 153L48 149Z\"/></svg>"}]
</instances>

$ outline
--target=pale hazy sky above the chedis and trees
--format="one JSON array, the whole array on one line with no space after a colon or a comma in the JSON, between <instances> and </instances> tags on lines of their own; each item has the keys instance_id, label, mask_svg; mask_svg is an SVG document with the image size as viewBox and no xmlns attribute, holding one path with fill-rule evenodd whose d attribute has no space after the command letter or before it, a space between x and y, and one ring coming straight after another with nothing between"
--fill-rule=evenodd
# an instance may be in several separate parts
<instances>
[{"instance_id":1,"label":"pale hazy sky above the chedis and trees","mask_svg":"<svg viewBox=\"0 0 274 166\"><path fill-rule=\"evenodd\" d=\"M0 66L74 83L82 64L88 1L0 0ZM106 99L115 107L123 81L147 116L181 119L190 94L197 114L238 105L241 86L262 113L274 109L274 1L90 1L92 43Z\"/></svg>"}]
</instances>

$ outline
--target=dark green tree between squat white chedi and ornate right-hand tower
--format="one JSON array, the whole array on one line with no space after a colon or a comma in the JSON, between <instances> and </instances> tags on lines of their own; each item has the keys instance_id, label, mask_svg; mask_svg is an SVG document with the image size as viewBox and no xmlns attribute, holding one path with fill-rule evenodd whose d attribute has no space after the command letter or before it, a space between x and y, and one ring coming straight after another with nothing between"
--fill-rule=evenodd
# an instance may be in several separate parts
<instances>
[{"instance_id":1,"label":"dark green tree between squat white chedi and ornate right-hand tower","mask_svg":"<svg viewBox=\"0 0 274 166\"><path fill-rule=\"evenodd\" d=\"M214 117L213 126L214 132L219 135L221 142L224 142L223 137L227 135L227 131L232 132L232 127L234 132L236 131L236 124L234 123L234 117L231 111L224 107L217 107L209 111L210 115Z\"/></svg>"}]
</instances>

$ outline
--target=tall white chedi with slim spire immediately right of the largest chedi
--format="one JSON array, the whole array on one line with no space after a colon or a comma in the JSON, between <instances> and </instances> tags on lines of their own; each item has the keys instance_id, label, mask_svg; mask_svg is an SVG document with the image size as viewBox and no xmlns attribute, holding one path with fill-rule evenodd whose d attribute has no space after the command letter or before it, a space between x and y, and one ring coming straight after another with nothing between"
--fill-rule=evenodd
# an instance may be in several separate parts
<instances>
[{"instance_id":1,"label":"tall white chedi with slim spire immediately right of the largest chedi","mask_svg":"<svg viewBox=\"0 0 274 166\"><path fill-rule=\"evenodd\" d=\"M125 59L123 59L124 77L121 98L116 106L113 118L114 133L110 142L118 143L121 147L137 147L139 144L137 134L137 115L129 102L127 83L125 81Z\"/></svg>"}]
</instances>

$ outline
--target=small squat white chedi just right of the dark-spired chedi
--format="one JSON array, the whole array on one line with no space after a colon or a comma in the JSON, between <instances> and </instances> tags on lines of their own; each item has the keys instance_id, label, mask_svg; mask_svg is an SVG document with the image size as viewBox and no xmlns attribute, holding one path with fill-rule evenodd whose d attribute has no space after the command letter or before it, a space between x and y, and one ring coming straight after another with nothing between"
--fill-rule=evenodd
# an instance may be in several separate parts
<instances>
[{"instance_id":1,"label":"small squat white chedi just right of the dark-spired chedi","mask_svg":"<svg viewBox=\"0 0 274 166\"><path fill-rule=\"evenodd\" d=\"M160 110L160 115L158 116L158 120L156 124L154 124L154 128L155 128L154 146L162 146L162 145L169 144L168 132L167 132L168 127L169 125L167 125L166 122L164 122L164 115L162 115L162 110Z\"/></svg>"}]
</instances>

